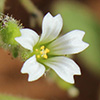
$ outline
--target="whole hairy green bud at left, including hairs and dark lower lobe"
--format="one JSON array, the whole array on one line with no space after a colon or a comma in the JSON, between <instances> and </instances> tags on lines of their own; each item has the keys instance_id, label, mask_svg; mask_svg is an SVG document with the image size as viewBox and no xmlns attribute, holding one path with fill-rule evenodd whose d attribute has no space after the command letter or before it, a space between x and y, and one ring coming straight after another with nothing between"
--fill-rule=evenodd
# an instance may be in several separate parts
<instances>
[{"instance_id":1,"label":"whole hairy green bud at left, including hairs and dark lower lobe","mask_svg":"<svg viewBox=\"0 0 100 100\"><path fill-rule=\"evenodd\" d=\"M18 57L20 51L19 43L15 38L21 36L21 28L17 20L0 13L0 46L9 50L14 58Z\"/></svg>"}]
</instances>

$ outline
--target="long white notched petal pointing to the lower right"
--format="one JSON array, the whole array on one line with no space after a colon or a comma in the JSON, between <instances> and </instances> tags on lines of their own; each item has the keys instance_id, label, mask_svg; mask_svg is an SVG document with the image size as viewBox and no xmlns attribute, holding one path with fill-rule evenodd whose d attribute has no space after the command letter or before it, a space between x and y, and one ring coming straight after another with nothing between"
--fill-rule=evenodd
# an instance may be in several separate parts
<instances>
[{"instance_id":1,"label":"long white notched petal pointing to the lower right","mask_svg":"<svg viewBox=\"0 0 100 100\"><path fill-rule=\"evenodd\" d=\"M78 65L67 57L52 57L44 64L52 68L64 81L72 84L74 83L73 75L81 74Z\"/></svg>"}]
</instances>

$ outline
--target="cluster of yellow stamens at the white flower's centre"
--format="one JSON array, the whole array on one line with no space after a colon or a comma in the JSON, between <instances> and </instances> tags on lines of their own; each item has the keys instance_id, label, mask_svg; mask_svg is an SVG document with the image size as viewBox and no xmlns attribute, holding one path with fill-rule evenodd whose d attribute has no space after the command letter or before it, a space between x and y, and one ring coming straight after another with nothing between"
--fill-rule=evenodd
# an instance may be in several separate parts
<instances>
[{"instance_id":1,"label":"cluster of yellow stamens at the white flower's centre","mask_svg":"<svg viewBox=\"0 0 100 100\"><path fill-rule=\"evenodd\" d=\"M35 51L37 58L44 58L44 59L48 58L48 53L50 52L50 50L48 48L45 48L44 45L41 46L39 49L35 49Z\"/></svg>"}]
</instances>

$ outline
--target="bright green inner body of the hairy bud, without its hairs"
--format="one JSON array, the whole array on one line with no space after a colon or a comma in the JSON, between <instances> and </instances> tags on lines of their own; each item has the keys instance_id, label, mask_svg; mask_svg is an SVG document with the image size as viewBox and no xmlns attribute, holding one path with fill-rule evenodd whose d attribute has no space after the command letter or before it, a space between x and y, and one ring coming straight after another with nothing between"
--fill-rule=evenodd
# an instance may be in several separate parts
<instances>
[{"instance_id":1,"label":"bright green inner body of the hairy bud, without its hairs","mask_svg":"<svg viewBox=\"0 0 100 100\"><path fill-rule=\"evenodd\" d=\"M8 21L3 29L1 29L2 41L10 45L18 45L15 41L15 37L21 36L20 28L15 23L15 21Z\"/></svg>"}]
</instances>

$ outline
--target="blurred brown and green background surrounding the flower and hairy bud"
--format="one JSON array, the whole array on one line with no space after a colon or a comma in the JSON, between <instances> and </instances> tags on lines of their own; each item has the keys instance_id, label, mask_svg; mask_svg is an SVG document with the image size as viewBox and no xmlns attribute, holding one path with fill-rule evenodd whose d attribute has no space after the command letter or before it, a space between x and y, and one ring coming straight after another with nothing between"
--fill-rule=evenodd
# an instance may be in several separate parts
<instances>
[{"instance_id":1,"label":"blurred brown and green background surrounding the flower and hairy bud","mask_svg":"<svg viewBox=\"0 0 100 100\"><path fill-rule=\"evenodd\" d=\"M82 72L75 76L74 85L65 83L54 72L27 82L28 76L20 73L23 62L0 48L0 100L100 100L100 0L0 0L0 12L38 33L47 12L53 16L59 13L64 23L61 34L83 30L84 41L90 44L73 56Z\"/></svg>"}]
</instances>

